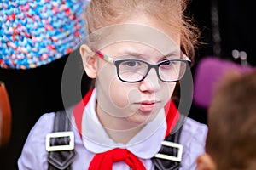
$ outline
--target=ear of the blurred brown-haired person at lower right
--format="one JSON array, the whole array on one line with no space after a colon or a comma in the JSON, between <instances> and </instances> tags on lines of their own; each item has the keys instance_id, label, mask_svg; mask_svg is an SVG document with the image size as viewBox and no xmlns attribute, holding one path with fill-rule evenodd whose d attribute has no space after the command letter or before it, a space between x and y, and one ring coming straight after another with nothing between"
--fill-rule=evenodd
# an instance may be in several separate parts
<instances>
[{"instance_id":1,"label":"ear of the blurred brown-haired person at lower right","mask_svg":"<svg viewBox=\"0 0 256 170\"><path fill-rule=\"evenodd\" d=\"M217 170L215 162L209 154L198 156L196 164L197 170Z\"/></svg>"}]
</instances>

